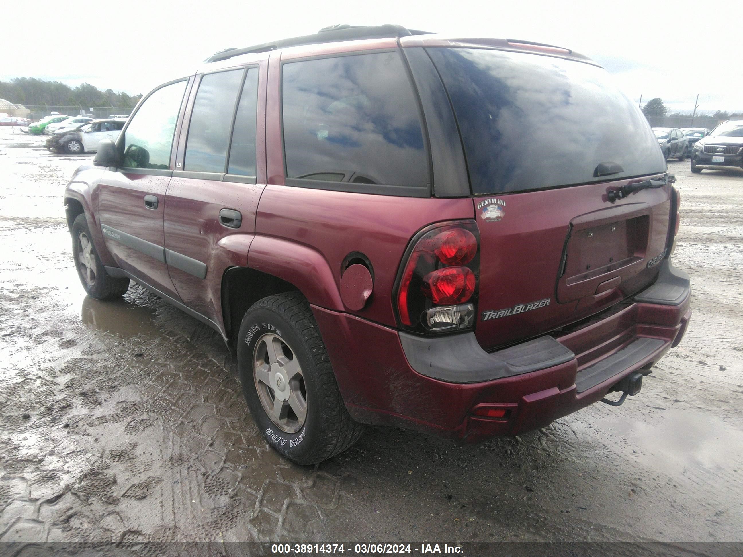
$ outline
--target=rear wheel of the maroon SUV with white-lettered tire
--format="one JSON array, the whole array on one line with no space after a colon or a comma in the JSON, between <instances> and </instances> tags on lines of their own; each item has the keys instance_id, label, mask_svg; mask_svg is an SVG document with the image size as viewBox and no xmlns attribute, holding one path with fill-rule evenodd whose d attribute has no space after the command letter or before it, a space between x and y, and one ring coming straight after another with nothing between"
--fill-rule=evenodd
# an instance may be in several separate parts
<instances>
[{"instance_id":1,"label":"rear wheel of the maroon SUV with white-lettered tire","mask_svg":"<svg viewBox=\"0 0 743 557\"><path fill-rule=\"evenodd\" d=\"M238 369L268 444L298 464L345 451L363 426L345 409L310 304L298 292L267 296L245 313Z\"/></svg>"}]
</instances>

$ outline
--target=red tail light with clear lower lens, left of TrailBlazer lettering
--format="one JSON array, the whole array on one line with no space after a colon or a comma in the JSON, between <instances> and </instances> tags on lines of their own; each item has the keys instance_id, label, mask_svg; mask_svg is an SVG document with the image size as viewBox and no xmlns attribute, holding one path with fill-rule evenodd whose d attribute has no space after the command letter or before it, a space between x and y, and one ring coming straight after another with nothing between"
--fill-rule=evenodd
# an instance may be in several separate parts
<instances>
[{"instance_id":1,"label":"red tail light with clear lower lens, left of TrailBlazer lettering","mask_svg":"<svg viewBox=\"0 0 743 557\"><path fill-rule=\"evenodd\" d=\"M426 333L471 328L479 264L474 221L436 224L418 232L398 278L400 325Z\"/></svg>"}]
</instances>

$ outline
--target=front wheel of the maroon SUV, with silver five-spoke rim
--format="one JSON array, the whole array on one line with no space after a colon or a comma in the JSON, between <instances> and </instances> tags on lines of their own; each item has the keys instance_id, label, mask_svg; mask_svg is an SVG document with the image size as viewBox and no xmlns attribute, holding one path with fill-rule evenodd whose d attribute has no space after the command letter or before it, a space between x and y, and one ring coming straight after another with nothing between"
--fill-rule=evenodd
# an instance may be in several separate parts
<instances>
[{"instance_id":1,"label":"front wheel of the maroon SUV, with silver five-spoke rim","mask_svg":"<svg viewBox=\"0 0 743 557\"><path fill-rule=\"evenodd\" d=\"M80 283L91 298L120 298L129 289L129 278L114 278L106 273L92 238L85 213L77 215L72 224L72 255Z\"/></svg>"}]
</instances>

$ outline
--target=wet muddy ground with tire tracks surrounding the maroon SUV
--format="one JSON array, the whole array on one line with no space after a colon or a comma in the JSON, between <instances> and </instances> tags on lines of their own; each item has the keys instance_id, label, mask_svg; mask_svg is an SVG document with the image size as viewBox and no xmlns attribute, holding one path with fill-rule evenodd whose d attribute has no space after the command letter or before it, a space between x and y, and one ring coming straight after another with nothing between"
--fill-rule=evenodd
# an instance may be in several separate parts
<instances>
[{"instance_id":1,"label":"wet muddy ground with tire tracks surrounding the maroon SUV","mask_svg":"<svg viewBox=\"0 0 743 557\"><path fill-rule=\"evenodd\" d=\"M690 174L681 346L623 406L456 447L375 429L314 467L262 440L221 339L90 299L62 192L91 155L0 128L1 541L743 541L743 172Z\"/></svg>"}]
</instances>

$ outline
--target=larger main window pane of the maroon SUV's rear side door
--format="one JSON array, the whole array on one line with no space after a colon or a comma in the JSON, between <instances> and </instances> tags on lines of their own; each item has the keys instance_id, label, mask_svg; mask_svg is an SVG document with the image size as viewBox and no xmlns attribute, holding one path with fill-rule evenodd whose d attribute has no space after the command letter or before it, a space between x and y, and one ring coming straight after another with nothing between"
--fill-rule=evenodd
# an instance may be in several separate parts
<instances>
[{"instance_id":1,"label":"larger main window pane of the maroon SUV's rear side door","mask_svg":"<svg viewBox=\"0 0 743 557\"><path fill-rule=\"evenodd\" d=\"M243 69L206 74L193 104L184 170L224 173Z\"/></svg>"}]
</instances>

